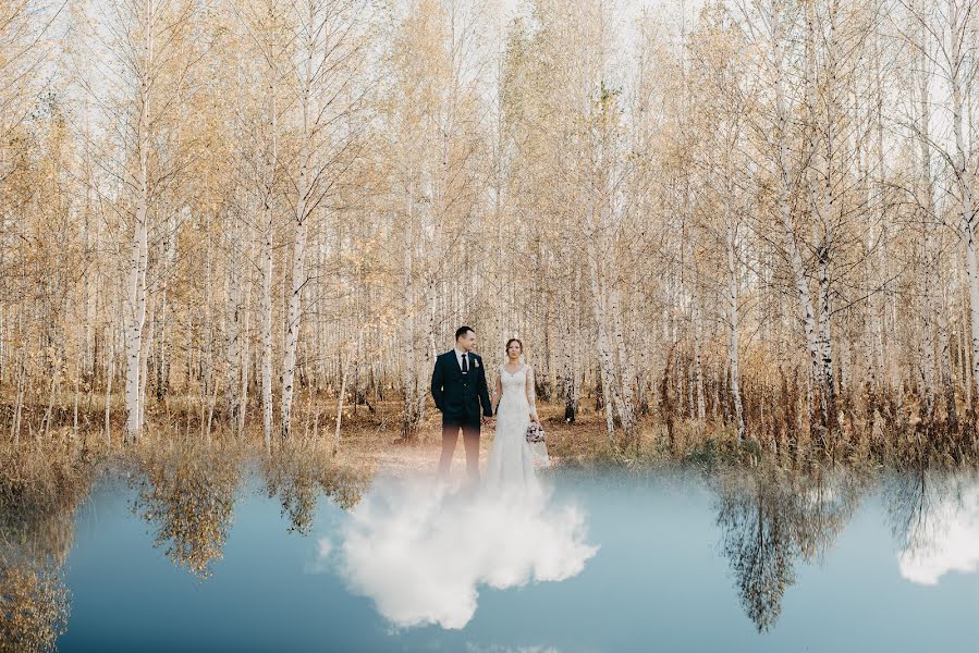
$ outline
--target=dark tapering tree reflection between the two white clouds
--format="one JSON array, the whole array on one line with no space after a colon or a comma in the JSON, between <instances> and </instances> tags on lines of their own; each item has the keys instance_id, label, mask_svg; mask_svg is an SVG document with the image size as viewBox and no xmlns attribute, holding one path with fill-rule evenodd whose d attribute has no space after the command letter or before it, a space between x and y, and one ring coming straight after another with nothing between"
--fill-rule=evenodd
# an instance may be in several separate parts
<instances>
[{"instance_id":1,"label":"dark tapering tree reflection between the two white clouds","mask_svg":"<svg viewBox=\"0 0 979 653\"><path fill-rule=\"evenodd\" d=\"M718 526L742 605L759 631L778 620L798 559L821 559L857 506L862 483L842 471L758 469L717 479Z\"/></svg>"}]
</instances>

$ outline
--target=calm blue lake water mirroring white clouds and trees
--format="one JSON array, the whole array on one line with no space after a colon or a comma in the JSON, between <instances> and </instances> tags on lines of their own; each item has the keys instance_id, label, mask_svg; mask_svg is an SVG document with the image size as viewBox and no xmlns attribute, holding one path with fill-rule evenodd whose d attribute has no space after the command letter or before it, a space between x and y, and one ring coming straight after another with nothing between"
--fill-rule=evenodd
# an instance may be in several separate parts
<instances>
[{"instance_id":1,"label":"calm blue lake water mirroring white clouds and trees","mask_svg":"<svg viewBox=\"0 0 979 653\"><path fill-rule=\"evenodd\" d=\"M107 475L58 649L976 650L975 475L548 471L537 502L381 475L345 507Z\"/></svg>"}]
</instances>

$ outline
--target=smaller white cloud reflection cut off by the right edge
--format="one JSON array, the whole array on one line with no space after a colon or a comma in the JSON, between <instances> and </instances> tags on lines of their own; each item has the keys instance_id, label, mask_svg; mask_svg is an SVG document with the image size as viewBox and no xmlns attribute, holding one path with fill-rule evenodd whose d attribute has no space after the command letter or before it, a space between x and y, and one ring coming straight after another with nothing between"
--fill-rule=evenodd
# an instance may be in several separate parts
<instances>
[{"instance_id":1,"label":"smaller white cloud reflection cut off by the right edge","mask_svg":"<svg viewBox=\"0 0 979 653\"><path fill-rule=\"evenodd\" d=\"M920 544L898 555L901 575L919 584L938 584L950 571L972 572L979 566L979 485L946 494L928 508L915 539Z\"/></svg>"}]
</instances>

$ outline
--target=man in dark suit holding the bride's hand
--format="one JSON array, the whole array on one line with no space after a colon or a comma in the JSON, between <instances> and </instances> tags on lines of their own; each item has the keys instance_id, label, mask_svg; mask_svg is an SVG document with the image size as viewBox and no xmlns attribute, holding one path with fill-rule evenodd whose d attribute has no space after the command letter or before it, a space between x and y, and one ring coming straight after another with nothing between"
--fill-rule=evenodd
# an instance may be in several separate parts
<instances>
[{"instance_id":1,"label":"man in dark suit holding the bride's hand","mask_svg":"<svg viewBox=\"0 0 979 653\"><path fill-rule=\"evenodd\" d=\"M493 408L482 359L473 353L475 346L476 332L469 326L460 326L455 332L455 348L436 358L431 373L431 396L442 412L439 479L449 476L452 453L462 429L466 471L472 482L479 481L479 405L482 404L482 423L489 423Z\"/></svg>"}]
</instances>

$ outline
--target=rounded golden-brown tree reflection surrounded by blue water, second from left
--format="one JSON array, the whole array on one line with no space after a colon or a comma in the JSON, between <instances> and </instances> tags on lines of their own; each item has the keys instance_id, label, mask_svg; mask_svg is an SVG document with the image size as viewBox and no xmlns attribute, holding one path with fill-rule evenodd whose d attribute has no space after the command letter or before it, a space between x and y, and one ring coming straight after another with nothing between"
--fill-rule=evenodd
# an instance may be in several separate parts
<instances>
[{"instance_id":1,"label":"rounded golden-brown tree reflection surrounded by blue water, second from left","mask_svg":"<svg viewBox=\"0 0 979 653\"><path fill-rule=\"evenodd\" d=\"M139 461L134 509L156 527L155 546L193 574L210 576L234 517L242 456L233 448L187 446Z\"/></svg>"}]
</instances>

